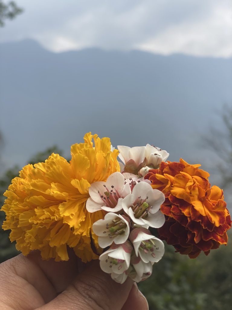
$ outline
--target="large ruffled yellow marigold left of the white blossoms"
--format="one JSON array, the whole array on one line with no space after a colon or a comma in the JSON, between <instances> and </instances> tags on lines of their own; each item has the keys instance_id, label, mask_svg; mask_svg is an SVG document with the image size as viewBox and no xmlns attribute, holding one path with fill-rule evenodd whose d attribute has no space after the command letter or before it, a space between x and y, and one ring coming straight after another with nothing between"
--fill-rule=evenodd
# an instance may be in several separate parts
<instances>
[{"instance_id":1,"label":"large ruffled yellow marigold left of the white blossoms","mask_svg":"<svg viewBox=\"0 0 232 310\"><path fill-rule=\"evenodd\" d=\"M98 258L92 224L104 215L86 210L88 188L120 171L117 156L109 138L87 133L84 143L71 146L70 162L53 153L45 162L25 166L4 193L1 209L6 213L2 228L11 229L17 250L24 255L40 250L43 259L59 261L69 259L69 246L83 262Z\"/></svg>"}]
</instances>

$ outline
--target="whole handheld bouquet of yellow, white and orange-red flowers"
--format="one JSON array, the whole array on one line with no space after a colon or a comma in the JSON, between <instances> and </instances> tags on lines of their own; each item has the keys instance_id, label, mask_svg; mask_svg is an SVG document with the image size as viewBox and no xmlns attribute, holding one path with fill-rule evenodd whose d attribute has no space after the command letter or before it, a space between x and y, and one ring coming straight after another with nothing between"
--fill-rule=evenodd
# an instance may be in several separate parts
<instances>
[{"instance_id":1,"label":"whole handheld bouquet of yellow, white and orange-red flowers","mask_svg":"<svg viewBox=\"0 0 232 310\"><path fill-rule=\"evenodd\" d=\"M68 260L70 247L83 262L99 259L120 283L151 275L162 240L190 258L208 255L228 241L223 191L199 164L168 156L149 144L114 149L89 132L71 146L70 162L53 153L19 172L4 194L2 228L24 255Z\"/></svg>"}]
</instances>

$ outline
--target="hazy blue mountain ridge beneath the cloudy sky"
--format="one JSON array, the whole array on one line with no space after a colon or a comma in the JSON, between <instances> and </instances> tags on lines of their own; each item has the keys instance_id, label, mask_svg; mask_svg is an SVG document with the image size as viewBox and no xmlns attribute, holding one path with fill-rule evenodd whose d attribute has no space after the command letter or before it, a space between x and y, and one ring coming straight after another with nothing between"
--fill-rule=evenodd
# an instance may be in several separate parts
<instances>
[{"instance_id":1,"label":"hazy blue mountain ridge beneath the cloudy sky","mask_svg":"<svg viewBox=\"0 0 232 310\"><path fill-rule=\"evenodd\" d=\"M114 146L154 144L172 161L210 162L201 135L221 126L218 111L232 103L231 69L232 59L1 43L4 168L54 144L68 156L87 131Z\"/></svg>"}]
</instances>

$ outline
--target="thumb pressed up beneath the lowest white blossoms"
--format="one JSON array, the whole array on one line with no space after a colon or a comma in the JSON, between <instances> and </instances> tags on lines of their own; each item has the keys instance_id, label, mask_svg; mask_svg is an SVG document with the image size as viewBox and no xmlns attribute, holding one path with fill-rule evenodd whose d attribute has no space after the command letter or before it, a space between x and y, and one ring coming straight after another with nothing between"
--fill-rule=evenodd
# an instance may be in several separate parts
<instances>
[{"instance_id":1,"label":"thumb pressed up beneath the lowest white blossoms","mask_svg":"<svg viewBox=\"0 0 232 310\"><path fill-rule=\"evenodd\" d=\"M121 310L131 291L130 278L116 283L93 261L55 299L38 310Z\"/></svg>"}]
</instances>

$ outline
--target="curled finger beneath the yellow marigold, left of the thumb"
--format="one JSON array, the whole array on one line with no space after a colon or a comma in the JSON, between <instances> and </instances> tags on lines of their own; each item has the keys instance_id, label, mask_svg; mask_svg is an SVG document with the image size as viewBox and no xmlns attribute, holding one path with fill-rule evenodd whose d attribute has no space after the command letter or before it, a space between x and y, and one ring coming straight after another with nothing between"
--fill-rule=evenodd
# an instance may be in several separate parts
<instances>
[{"instance_id":1,"label":"curled finger beneath the yellow marigold, left of the thumb","mask_svg":"<svg viewBox=\"0 0 232 310\"><path fill-rule=\"evenodd\" d=\"M44 261L33 251L1 263L0 309L32 310L48 303L75 279L79 263L71 249L67 262Z\"/></svg>"}]
</instances>

